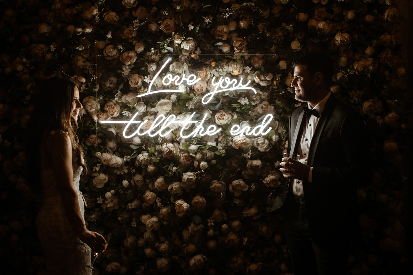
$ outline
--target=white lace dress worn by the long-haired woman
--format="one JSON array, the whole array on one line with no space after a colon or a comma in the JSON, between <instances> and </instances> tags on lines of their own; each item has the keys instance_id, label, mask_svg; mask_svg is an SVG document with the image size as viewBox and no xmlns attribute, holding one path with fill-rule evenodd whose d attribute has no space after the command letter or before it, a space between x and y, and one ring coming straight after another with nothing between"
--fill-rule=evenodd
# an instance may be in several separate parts
<instances>
[{"instance_id":1,"label":"white lace dress worn by the long-haired woman","mask_svg":"<svg viewBox=\"0 0 413 275\"><path fill-rule=\"evenodd\" d=\"M84 219L85 206L79 191L79 180L83 167L73 171L73 183L78 193L79 206ZM40 174L44 192L44 205L36 218L38 236L46 254L47 274L91 275L91 249L74 233L63 207L62 196L51 167Z\"/></svg>"}]
</instances>

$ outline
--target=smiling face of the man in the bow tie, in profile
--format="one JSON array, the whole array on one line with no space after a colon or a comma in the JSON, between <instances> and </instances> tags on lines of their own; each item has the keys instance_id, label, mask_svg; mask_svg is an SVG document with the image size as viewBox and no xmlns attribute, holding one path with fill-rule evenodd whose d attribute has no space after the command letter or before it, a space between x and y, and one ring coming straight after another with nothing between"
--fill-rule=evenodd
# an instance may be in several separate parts
<instances>
[{"instance_id":1,"label":"smiling face of the man in the bow tie, in profile","mask_svg":"<svg viewBox=\"0 0 413 275\"><path fill-rule=\"evenodd\" d=\"M314 97L315 83L313 77L307 72L306 65L294 67L294 79L291 87L295 90L295 99L302 102L311 101Z\"/></svg>"}]
</instances>

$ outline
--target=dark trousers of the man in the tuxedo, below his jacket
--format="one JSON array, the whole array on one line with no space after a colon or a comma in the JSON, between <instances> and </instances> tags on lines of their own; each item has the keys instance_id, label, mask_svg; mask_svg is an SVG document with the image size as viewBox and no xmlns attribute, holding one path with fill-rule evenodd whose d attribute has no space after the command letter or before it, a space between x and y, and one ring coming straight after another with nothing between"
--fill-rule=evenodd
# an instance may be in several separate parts
<instances>
[{"instance_id":1,"label":"dark trousers of the man in the tuxedo, below his jacket","mask_svg":"<svg viewBox=\"0 0 413 275\"><path fill-rule=\"evenodd\" d=\"M282 210L285 235L294 275L345 275L346 244L331 240L320 247L311 237L306 219L304 197L293 197Z\"/></svg>"}]
</instances>

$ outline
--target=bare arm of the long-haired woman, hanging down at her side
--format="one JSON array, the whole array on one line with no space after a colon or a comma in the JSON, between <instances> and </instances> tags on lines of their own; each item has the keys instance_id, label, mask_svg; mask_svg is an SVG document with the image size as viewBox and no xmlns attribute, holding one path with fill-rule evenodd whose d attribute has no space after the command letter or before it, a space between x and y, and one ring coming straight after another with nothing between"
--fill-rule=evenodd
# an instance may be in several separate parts
<instances>
[{"instance_id":1,"label":"bare arm of the long-haired woman, hanging down at her side","mask_svg":"<svg viewBox=\"0 0 413 275\"><path fill-rule=\"evenodd\" d=\"M73 184L72 147L69 135L57 132L47 143L55 173L57 188L62 194L63 206L75 234L94 251L104 250L105 240L102 235L89 231L83 222L79 207L78 194Z\"/></svg>"}]
</instances>

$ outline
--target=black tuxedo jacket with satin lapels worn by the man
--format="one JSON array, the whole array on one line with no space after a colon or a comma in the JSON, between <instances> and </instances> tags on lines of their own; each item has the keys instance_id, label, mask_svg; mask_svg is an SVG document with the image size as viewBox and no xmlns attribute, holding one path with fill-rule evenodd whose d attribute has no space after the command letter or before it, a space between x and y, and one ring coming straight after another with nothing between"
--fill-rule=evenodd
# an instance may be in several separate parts
<instances>
[{"instance_id":1,"label":"black tuxedo jacket with satin lapels worn by the man","mask_svg":"<svg viewBox=\"0 0 413 275\"><path fill-rule=\"evenodd\" d=\"M307 104L290 116L289 152L300 146ZM307 165L312 182L303 181L307 223L318 245L336 237L350 237L358 225L357 188L371 181L371 150L361 115L331 95L311 139ZM271 211L288 210L294 194L292 180L275 198ZM284 213L285 214L285 213Z\"/></svg>"}]
</instances>

